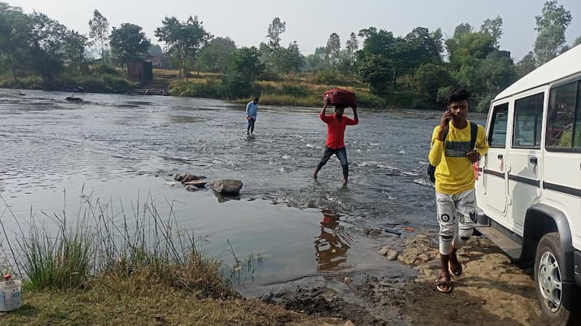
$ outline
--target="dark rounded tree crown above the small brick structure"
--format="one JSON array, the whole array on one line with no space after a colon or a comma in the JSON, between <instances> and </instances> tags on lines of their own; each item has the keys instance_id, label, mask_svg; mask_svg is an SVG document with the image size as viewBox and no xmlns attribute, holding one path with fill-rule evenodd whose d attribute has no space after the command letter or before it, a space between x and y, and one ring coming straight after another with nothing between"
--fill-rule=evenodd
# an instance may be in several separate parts
<instances>
[{"instance_id":1,"label":"dark rounded tree crown above the small brick structure","mask_svg":"<svg viewBox=\"0 0 581 326\"><path fill-rule=\"evenodd\" d=\"M140 26L129 23L121 24L119 28L113 27L109 40L111 51L121 65L139 59L152 45Z\"/></svg>"}]
</instances>

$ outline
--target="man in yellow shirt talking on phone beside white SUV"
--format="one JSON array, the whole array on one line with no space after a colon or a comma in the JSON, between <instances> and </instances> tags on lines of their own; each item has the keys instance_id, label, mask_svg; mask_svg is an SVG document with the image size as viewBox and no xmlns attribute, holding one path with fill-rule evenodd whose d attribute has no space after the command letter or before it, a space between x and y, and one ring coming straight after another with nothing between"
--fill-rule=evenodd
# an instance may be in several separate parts
<instances>
[{"instance_id":1,"label":"man in yellow shirt talking on phone beside white SUV","mask_svg":"<svg viewBox=\"0 0 581 326\"><path fill-rule=\"evenodd\" d=\"M450 273L454 276L462 274L456 251L464 246L476 226L472 163L478 162L488 152L484 128L466 119L469 97L470 93L464 88L448 94L448 107L440 125L434 128L429 151L429 162L436 166L436 210L440 225L441 270L436 288L446 293L452 290ZM472 132L474 127L476 133ZM476 148L473 148L473 143ZM458 234L454 234L456 218Z\"/></svg>"}]
</instances>

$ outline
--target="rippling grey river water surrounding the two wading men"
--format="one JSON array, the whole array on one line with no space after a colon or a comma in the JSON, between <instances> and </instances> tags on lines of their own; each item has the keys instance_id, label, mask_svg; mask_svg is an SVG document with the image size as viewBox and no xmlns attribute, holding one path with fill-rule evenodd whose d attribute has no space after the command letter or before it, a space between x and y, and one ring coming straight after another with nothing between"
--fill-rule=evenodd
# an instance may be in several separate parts
<instances>
[{"instance_id":1,"label":"rippling grey river water surrounding the two wading men","mask_svg":"<svg viewBox=\"0 0 581 326\"><path fill-rule=\"evenodd\" d=\"M237 255L260 253L258 285L377 268L385 262L375 247L393 236L382 230L437 226L425 174L437 112L362 109L345 133L342 187L335 157L312 179L326 139L317 108L259 106L248 138L243 105L112 94L71 103L69 95L0 90L0 194L23 223L78 209L86 193L118 209L150 198L168 211L172 202L180 226L207 236L208 253L227 256L228 240ZM185 172L241 179L241 197L173 185L171 175ZM0 218L17 228L6 211Z\"/></svg>"}]
</instances>

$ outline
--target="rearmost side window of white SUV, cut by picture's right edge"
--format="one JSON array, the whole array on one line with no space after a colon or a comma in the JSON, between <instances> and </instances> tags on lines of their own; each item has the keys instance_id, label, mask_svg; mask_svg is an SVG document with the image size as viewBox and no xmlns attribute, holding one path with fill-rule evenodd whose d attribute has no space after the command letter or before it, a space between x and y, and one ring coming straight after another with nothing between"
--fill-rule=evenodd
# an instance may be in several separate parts
<instances>
[{"instance_id":1,"label":"rearmost side window of white SUV, cut by picture's right edge","mask_svg":"<svg viewBox=\"0 0 581 326\"><path fill-rule=\"evenodd\" d=\"M551 90L547 120L547 147L581 148L581 83L567 83Z\"/></svg>"}]
</instances>

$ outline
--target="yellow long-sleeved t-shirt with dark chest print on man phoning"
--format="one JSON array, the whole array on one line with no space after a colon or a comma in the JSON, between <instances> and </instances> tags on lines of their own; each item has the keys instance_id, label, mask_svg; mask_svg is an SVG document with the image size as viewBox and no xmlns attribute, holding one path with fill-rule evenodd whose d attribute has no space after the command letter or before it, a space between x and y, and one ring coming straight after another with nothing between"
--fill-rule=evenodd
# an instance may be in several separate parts
<instances>
[{"instance_id":1,"label":"yellow long-sleeved t-shirt with dark chest print on man phoning","mask_svg":"<svg viewBox=\"0 0 581 326\"><path fill-rule=\"evenodd\" d=\"M429 162L436 166L436 191L443 194L460 194L474 189L474 171L472 162L466 156L470 148L470 129L458 129L450 123L448 136L444 141L438 140L440 126L432 133L432 147L429 150ZM445 144L444 144L445 143ZM488 153L488 141L484 127L478 126L476 134L476 151L481 157Z\"/></svg>"}]
</instances>

